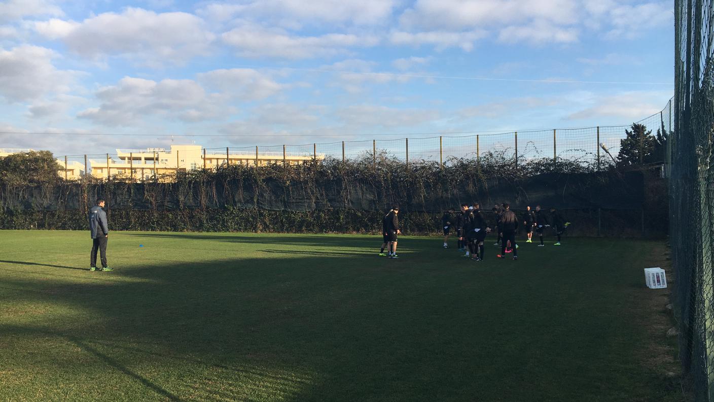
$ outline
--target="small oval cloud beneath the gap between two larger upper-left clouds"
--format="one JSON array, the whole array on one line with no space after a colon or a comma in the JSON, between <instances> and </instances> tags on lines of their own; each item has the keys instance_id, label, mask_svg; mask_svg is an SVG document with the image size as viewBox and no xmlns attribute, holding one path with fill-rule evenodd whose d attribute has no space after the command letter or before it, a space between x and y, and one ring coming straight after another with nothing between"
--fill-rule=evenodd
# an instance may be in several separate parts
<instances>
[{"instance_id":1,"label":"small oval cloud beneath the gap between two larger upper-left clouds","mask_svg":"<svg viewBox=\"0 0 714 402\"><path fill-rule=\"evenodd\" d=\"M256 100L271 97L284 88L253 69L218 69L198 74L198 80L208 87L231 94L243 100Z\"/></svg>"}]
</instances>

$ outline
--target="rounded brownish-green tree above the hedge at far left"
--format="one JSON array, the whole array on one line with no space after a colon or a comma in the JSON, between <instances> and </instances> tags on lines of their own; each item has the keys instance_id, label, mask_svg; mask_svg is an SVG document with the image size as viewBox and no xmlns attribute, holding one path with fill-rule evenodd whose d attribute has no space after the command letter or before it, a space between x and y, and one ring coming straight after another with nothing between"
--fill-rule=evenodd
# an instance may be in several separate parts
<instances>
[{"instance_id":1,"label":"rounded brownish-green tree above the hedge at far left","mask_svg":"<svg viewBox=\"0 0 714 402\"><path fill-rule=\"evenodd\" d=\"M60 180L61 169L52 152L18 152L0 157L0 183L10 186L54 183Z\"/></svg>"}]
</instances>

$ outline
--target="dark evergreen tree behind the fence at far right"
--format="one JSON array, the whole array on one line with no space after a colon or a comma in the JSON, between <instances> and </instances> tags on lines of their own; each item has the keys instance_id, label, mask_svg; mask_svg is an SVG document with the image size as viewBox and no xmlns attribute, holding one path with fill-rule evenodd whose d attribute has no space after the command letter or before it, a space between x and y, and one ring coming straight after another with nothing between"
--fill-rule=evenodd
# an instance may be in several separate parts
<instances>
[{"instance_id":1,"label":"dark evergreen tree behind the fence at far right","mask_svg":"<svg viewBox=\"0 0 714 402\"><path fill-rule=\"evenodd\" d=\"M645 124L633 123L630 129L625 129L625 139L620 140L618 153L621 165L643 165L664 161L667 138L660 129L657 135L647 129Z\"/></svg>"}]
</instances>

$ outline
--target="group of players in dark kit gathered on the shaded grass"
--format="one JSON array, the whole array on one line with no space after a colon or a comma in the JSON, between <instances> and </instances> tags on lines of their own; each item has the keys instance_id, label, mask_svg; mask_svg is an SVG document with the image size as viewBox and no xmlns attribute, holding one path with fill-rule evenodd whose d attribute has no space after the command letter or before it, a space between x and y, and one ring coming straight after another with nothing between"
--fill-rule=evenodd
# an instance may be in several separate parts
<instances>
[{"instance_id":1,"label":"group of players in dark kit gathered on the shaded grass","mask_svg":"<svg viewBox=\"0 0 714 402\"><path fill-rule=\"evenodd\" d=\"M462 204L461 210L456 212L456 217L454 217L454 210L445 212L441 218L444 234L443 247L448 248L448 237L451 235L451 228L456 226L458 250L466 252L463 257L471 258L471 260L477 262L482 261L486 256L484 247L486 235L496 232L497 238L494 245L501 245L501 254L498 254L497 257L506 258L506 254L512 253L513 260L518 260L516 233L518 233L518 227L521 222L523 222L523 227L526 230L526 242L533 242L533 232L535 232L540 238L538 247L545 247L543 237L545 236L545 231L550 227L555 230L555 235L558 238L555 245L560 245L562 235L570 224L565 222L563 216L555 210L555 207L550 207L550 214L548 214L540 209L540 205L535 206L535 211L528 206L526 211L523 212L521 220L511 210L511 205L508 202L494 205L491 212L493 212L493 225L486 220L486 215L481 210L478 202L473 202L473 205ZM396 253L397 239L398 235L401 234L398 214L399 207L394 206L382 219L383 243L379 255L398 258ZM387 253L384 253L385 248Z\"/></svg>"}]
</instances>

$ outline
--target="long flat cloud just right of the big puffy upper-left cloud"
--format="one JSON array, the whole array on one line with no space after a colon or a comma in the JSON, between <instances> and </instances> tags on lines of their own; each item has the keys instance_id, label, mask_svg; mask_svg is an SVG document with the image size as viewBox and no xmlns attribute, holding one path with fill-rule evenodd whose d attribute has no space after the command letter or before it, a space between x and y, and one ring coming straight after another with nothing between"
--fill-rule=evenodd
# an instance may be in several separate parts
<instances>
[{"instance_id":1,"label":"long flat cloud just right of the big puffy upper-left cloud","mask_svg":"<svg viewBox=\"0 0 714 402\"><path fill-rule=\"evenodd\" d=\"M276 57L308 59L333 56L351 47L371 47L378 44L376 36L355 34L324 34L296 36L281 29L241 26L222 35L223 41L235 47L243 57Z\"/></svg>"}]
</instances>

